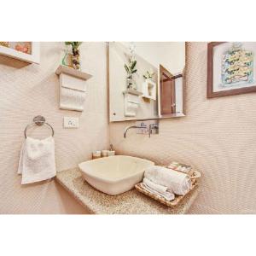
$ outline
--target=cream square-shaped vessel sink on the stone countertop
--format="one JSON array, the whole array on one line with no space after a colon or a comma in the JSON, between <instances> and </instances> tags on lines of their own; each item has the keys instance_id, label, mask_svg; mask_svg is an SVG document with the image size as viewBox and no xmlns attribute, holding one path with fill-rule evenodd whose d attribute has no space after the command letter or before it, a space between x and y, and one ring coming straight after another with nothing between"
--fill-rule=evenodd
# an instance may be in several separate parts
<instances>
[{"instance_id":1,"label":"cream square-shaped vessel sink on the stone countertop","mask_svg":"<svg viewBox=\"0 0 256 256\"><path fill-rule=\"evenodd\" d=\"M115 155L85 161L79 164L79 169L84 179L94 188L108 195L119 195L139 183L148 166L154 166L154 162Z\"/></svg>"}]
</instances>

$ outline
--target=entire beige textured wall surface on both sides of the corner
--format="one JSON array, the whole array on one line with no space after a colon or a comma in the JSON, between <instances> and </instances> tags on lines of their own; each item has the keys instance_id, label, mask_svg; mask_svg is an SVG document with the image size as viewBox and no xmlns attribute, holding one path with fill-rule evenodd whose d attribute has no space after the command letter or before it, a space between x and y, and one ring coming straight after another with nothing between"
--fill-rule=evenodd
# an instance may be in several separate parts
<instances>
[{"instance_id":1,"label":"entire beige textured wall surface on both sides of the corner","mask_svg":"<svg viewBox=\"0 0 256 256\"><path fill-rule=\"evenodd\" d=\"M55 127L58 170L89 159L92 150L108 147L105 44L82 44L82 68L93 75L83 113L58 108L55 68L61 49L61 43L41 44L40 65L0 56L0 213L84 213L55 182L21 187L16 174L23 130L37 114ZM207 100L206 43L188 45L187 70L186 117L161 120L160 134L150 139L132 130L124 139L125 126L133 122L113 123L111 143L119 154L160 164L177 160L201 171L201 195L191 213L256 213L256 96ZM79 117L79 129L63 129L63 116ZM39 129L34 135L48 135L48 130Z\"/></svg>"}]
</instances>

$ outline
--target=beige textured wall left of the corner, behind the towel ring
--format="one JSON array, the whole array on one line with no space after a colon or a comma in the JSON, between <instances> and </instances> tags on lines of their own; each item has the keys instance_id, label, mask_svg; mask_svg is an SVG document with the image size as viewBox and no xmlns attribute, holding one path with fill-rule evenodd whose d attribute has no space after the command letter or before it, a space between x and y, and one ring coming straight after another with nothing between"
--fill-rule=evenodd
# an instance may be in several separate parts
<instances>
[{"instance_id":1,"label":"beige textured wall left of the corner, behind the towel ring","mask_svg":"<svg viewBox=\"0 0 256 256\"><path fill-rule=\"evenodd\" d=\"M0 56L0 213L83 213L84 209L54 181L20 185L16 174L25 126L44 115L55 129L57 170L77 166L90 153L109 145L106 45L81 45L82 69L88 81L84 112L60 110L58 67L63 43L42 43L40 65ZM79 117L79 129L63 129L63 116ZM31 130L32 131L32 130ZM35 132L47 132L38 128ZM38 135L38 134L37 134ZM45 134L46 135L46 134Z\"/></svg>"}]
</instances>

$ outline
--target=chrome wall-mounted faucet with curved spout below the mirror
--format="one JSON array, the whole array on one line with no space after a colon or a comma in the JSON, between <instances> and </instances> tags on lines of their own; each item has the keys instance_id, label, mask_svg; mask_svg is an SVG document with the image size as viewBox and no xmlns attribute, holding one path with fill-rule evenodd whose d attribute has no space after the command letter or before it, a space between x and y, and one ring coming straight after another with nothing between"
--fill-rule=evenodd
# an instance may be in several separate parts
<instances>
[{"instance_id":1,"label":"chrome wall-mounted faucet with curved spout below the mirror","mask_svg":"<svg viewBox=\"0 0 256 256\"><path fill-rule=\"evenodd\" d=\"M127 126L124 131L124 137L129 129L137 129L138 134L148 134L148 137L151 134L159 133L159 122L158 120L146 120L146 121L137 121L136 125Z\"/></svg>"}]
</instances>

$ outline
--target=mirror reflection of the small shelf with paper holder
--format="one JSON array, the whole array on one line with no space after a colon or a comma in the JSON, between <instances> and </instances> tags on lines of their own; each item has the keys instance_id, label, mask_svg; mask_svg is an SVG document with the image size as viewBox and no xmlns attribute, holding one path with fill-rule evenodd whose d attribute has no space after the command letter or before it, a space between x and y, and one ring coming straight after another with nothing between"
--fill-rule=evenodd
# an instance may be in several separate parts
<instances>
[{"instance_id":1,"label":"mirror reflection of the small shelf with paper holder","mask_svg":"<svg viewBox=\"0 0 256 256\"><path fill-rule=\"evenodd\" d=\"M125 90L123 91L125 96L125 116L136 116L137 109L139 108L140 101L139 96L143 93L137 90Z\"/></svg>"}]
</instances>

